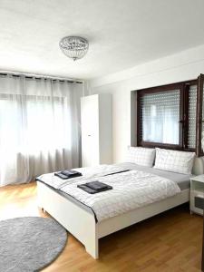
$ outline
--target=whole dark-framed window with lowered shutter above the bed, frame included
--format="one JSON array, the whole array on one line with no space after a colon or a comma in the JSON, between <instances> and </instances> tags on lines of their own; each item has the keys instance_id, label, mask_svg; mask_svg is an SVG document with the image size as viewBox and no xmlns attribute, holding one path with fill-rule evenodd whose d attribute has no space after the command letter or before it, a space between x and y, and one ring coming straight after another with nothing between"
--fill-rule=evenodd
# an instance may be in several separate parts
<instances>
[{"instance_id":1,"label":"whole dark-framed window with lowered shutter above the bed, frame included","mask_svg":"<svg viewBox=\"0 0 204 272\"><path fill-rule=\"evenodd\" d=\"M138 91L138 145L197 151L200 155L200 141L204 131L202 92L202 75L198 81L173 83ZM199 123L202 125L197 121L198 111Z\"/></svg>"}]
</instances>

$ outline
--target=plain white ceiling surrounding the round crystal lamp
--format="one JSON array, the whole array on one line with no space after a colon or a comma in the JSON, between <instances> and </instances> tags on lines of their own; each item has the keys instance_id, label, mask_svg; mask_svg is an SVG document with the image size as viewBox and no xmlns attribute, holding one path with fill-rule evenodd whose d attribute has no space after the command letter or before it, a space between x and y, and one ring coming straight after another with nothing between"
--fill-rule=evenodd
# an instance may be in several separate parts
<instances>
[{"instance_id":1,"label":"plain white ceiling surrounding the round crystal lamp","mask_svg":"<svg viewBox=\"0 0 204 272\"><path fill-rule=\"evenodd\" d=\"M203 0L0 0L0 70L92 79L204 44ZM90 50L73 62L65 35Z\"/></svg>"}]
</instances>

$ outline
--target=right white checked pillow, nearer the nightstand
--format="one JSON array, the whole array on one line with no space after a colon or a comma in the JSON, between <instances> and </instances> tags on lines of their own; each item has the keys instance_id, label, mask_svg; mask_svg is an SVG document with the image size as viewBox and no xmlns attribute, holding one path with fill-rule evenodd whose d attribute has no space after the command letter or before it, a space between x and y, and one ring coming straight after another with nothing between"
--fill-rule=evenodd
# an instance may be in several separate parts
<instances>
[{"instance_id":1,"label":"right white checked pillow, nearer the nightstand","mask_svg":"<svg viewBox=\"0 0 204 272\"><path fill-rule=\"evenodd\" d=\"M154 168L181 174L191 174L194 157L194 152L169 151L156 148Z\"/></svg>"}]
</instances>

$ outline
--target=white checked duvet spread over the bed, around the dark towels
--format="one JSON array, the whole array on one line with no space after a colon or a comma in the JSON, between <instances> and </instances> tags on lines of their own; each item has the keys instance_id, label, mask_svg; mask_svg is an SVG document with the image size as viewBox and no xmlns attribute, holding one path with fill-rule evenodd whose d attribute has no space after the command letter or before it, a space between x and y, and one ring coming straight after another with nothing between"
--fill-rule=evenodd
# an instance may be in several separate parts
<instances>
[{"instance_id":1,"label":"white checked duvet spread over the bed, around the dark towels","mask_svg":"<svg viewBox=\"0 0 204 272\"><path fill-rule=\"evenodd\" d=\"M110 176L103 175L124 169L120 166L103 165L98 168L79 170L83 172L83 177L65 182L54 177L55 188L58 187L74 199L92 208L99 222L180 193L180 188L175 181L141 170L130 170ZM52 186L51 177L53 174L46 174L38 179ZM47 182L47 180L49 181ZM77 188L78 184L93 180L111 185L113 189L89 194L83 189Z\"/></svg>"}]
</instances>

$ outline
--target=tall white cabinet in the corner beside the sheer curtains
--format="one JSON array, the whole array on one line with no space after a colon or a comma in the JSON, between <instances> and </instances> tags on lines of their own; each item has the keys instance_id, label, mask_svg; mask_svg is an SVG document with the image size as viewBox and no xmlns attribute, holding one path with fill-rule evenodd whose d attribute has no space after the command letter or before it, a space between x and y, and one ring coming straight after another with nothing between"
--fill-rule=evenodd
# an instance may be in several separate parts
<instances>
[{"instance_id":1,"label":"tall white cabinet in the corner beside the sheer curtains","mask_svg":"<svg viewBox=\"0 0 204 272\"><path fill-rule=\"evenodd\" d=\"M112 94L81 98L82 164L112 163Z\"/></svg>"}]
</instances>

